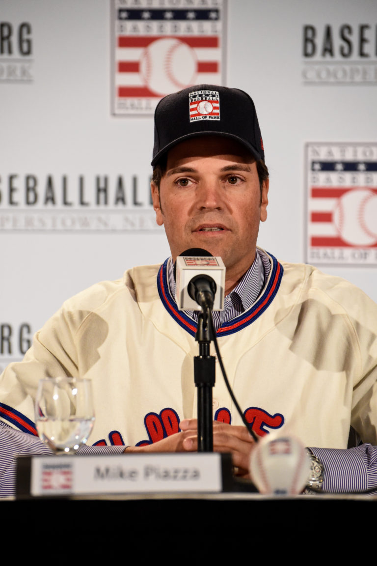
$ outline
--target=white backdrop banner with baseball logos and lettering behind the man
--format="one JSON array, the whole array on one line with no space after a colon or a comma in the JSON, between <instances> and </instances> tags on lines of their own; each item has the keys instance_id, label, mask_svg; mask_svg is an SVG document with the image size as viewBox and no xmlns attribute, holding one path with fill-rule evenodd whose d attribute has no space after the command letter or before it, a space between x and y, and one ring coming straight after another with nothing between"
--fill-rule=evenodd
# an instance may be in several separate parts
<instances>
[{"instance_id":1,"label":"white backdrop banner with baseball logos and lettering behind the man","mask_svg":"<svg viewBox=\"0 0 377 566\"><path fill-rule=\"evenodd\" d=\"M254 99L259 245L377 300L375 0L0 0L0 370L64 299L169 255L153 111L197 83Z\"/></svg>"}]
</instances>

